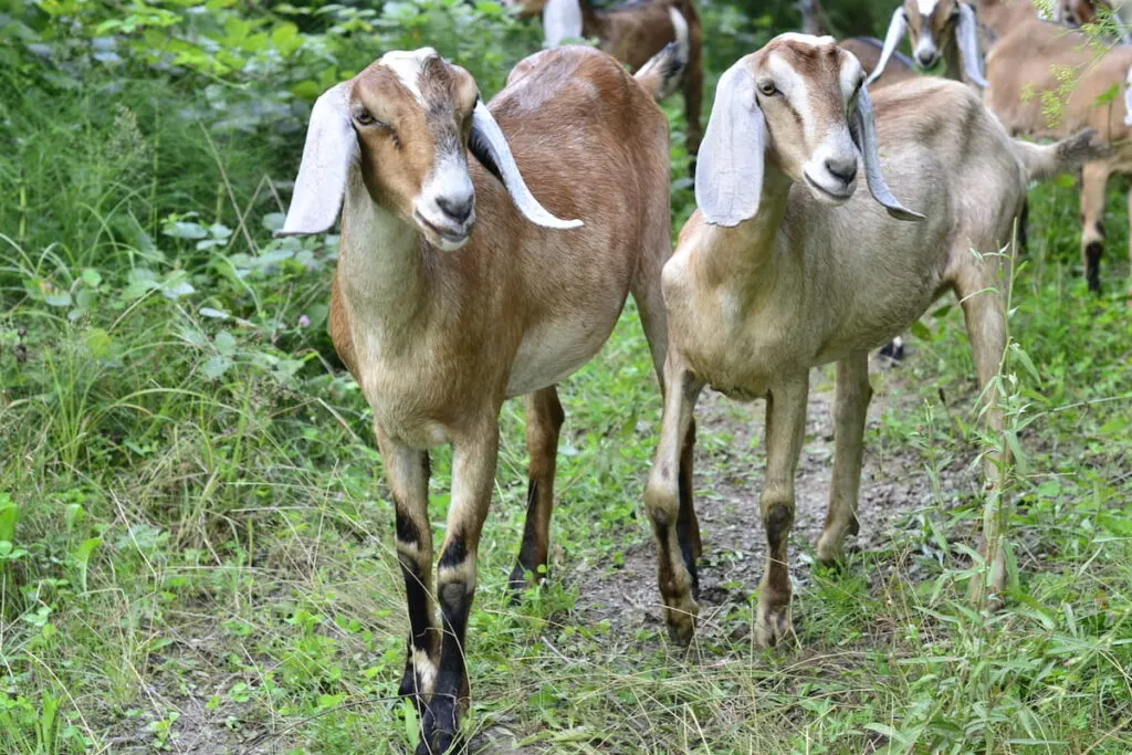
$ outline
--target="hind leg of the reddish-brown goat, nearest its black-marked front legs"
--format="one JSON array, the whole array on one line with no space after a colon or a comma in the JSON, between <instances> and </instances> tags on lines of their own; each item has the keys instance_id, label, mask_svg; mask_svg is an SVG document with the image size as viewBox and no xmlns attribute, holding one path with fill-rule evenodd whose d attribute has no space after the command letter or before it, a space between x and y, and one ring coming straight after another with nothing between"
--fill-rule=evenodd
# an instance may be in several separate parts
<instances>
[{"instance_id":1,"label":"hind leg of the reddish-brown goat, nearest its black-marked front legs","mask_svg":"<svg viewBox=\"0 0 1132 755\"><path fill-rule=\"evenodd\" d=\"M530 481L526 488L526 523L518 563L511 573L513 599L528 586L530 572L535 584L542 581L540 567L547 565L550 547L550 514L555 507L555 466L558 457L558 434L566 414L555 386L543 388L526 400L526 448L531 455Z\"/></svg>"}]
</instances>

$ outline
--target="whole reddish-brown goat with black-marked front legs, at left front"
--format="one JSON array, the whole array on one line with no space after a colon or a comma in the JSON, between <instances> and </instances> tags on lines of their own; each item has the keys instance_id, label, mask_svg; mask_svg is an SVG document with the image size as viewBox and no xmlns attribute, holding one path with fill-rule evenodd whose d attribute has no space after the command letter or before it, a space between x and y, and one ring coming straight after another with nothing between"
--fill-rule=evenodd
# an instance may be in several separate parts
<instances>
[{"instance_id":1,"label":"whole reddish-brown goat with black-marked front legs, at left front","mask_svg":"<svg viewBox=\"0 0 1132 755\"><path fill-rule=\"evenodd\" d=\"M636 79L591 48L541 52L490 105L434 50L389 52L311 113L282 233L327 231L341 208L331 332L374 411L393 496L410 624L401 694L421 709L418 753L452 747L469 698L465 629L504 400L529 396L522 585L547 563L555 385L598 352L629 292L660 375L671 240L654 97L680 72L675 50ZM452 503L434 592L429 449L444 443Z\"/></svg>"}]
</instances>

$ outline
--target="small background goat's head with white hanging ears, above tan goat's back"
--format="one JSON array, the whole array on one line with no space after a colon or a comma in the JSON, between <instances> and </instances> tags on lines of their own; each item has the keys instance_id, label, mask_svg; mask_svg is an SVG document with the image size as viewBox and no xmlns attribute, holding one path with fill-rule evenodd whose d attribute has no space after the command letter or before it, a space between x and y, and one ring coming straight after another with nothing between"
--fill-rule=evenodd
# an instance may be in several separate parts
<instances>
[{"instance_id":1,"label":"small background goat's head with white hanging ears, above tan goat's back","mask_svg":"<svg viewBox=\"0 0 1132 755\"><path fill-rule=\"evenodd\" d=\"M940 62L943 51L954 41L967 77L978 86L987 85L983 77L983 54L979 52L978 26L971 3L960 0L904 0L892 14L881 62L869 83L884 71L889 58L906 34L911 37L912 58L921 68L932 68Z\"/></svg>"}]
</instances>

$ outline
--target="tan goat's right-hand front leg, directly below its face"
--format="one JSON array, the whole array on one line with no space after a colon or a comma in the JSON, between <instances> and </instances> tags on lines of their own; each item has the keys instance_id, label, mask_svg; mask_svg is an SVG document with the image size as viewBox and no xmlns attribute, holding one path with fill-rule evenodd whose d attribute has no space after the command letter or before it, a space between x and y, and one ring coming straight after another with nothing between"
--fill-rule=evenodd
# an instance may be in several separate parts
<instances>
[{"instance_id":1,"label":"tan goat's right-hand front leg, directly below its face","mask_svg":"<svg viewBox=\"0 0 1132 755\"><path fill-rule=\"evenodd\" d=\"M788 540L794 524L794 478L806 432L809 375L773 385L766 394L766 480L760 508L766 527L766 572L758 586L755 641L777 645L792 632Z\"/></svg>"}]
</instances>

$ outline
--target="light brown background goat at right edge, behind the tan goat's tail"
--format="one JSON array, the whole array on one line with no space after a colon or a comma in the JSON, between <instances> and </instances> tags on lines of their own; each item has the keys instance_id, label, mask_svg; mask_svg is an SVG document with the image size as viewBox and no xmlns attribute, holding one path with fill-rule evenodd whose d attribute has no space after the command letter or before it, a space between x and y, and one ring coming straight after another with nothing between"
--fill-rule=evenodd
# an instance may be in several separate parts
<instances>
[{"instance_id":1,"label":"light brown background goat at right edge, behind the tan goat's tail","mask_svg":"<svg viewBox=\"0 0 1132 755\"><path fill-rule=\"evenodd\" d=\"M1081 258L1089 289L1099 291L1105 190L1112 174L1132 172L1132 45L1106 46L1044 22L1028 0L979 3L980 20L997 35L987 52L984 100L1006 130L1061 138L1088 127L1114 147L1081 170ZM1026 9L1030 12L1020 15ZM1067 98L1066 71L1077 77ZM1046 112L1049 96L1064 101L1053 120ZM1129 207L1132 209L1132 194Z\"/></svg>"}]
</instances>

